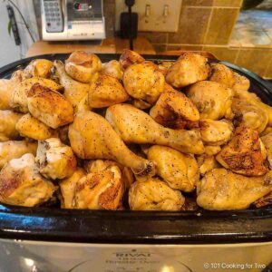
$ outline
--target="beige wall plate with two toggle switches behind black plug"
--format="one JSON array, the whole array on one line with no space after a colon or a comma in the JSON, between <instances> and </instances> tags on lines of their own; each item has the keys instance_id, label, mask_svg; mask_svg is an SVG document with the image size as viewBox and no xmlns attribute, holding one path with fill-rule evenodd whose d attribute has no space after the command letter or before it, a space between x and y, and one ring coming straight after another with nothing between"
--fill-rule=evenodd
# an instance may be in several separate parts
<instances>
[{"instance_id":1,"label":"beige wall plate with two toggle switches behind black plug","mask_svg":"<svg viewBox=\"0 0 272 272\"><path fill-rule=\"evenodd\" d=\"M120 15L127 12L124 0L115 0L115 29L120 29ZM138 13L138 31L177 32L181 0L135 0L132 12Z\"/></svg>"}]
</instances>

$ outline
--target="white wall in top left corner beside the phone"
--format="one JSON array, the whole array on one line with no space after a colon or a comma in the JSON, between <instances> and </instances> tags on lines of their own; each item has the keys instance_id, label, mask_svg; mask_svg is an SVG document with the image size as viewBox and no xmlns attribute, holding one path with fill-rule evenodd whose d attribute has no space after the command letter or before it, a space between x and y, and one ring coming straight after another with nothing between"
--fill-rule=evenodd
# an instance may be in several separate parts
<instances>
[{"instance_id":1,"label":"white wall in top left corner beside the phone","mask_svg":"<svg viewBox=\"0 0 272 272\"><path fill-rule=\"evenodd\" d=\"M38 40L37 25L34 15L34 7L31 0L14 0L15 4L18 5L20 11L24 15L27 24L30 27L34 39ZM0 0L0 67L15 62L21 58L24 58L24 54L31 44L33 44L29 34L27 33L23 21L18 13L15 11L15 18L17 21L19 34L21 37L22 44L20 46L15 45L13 35L9 36L7 32L7 25L9 22L6 6L7 1ZM15 8L14 8L15 10Z\"/></svg>"}]
</instances>

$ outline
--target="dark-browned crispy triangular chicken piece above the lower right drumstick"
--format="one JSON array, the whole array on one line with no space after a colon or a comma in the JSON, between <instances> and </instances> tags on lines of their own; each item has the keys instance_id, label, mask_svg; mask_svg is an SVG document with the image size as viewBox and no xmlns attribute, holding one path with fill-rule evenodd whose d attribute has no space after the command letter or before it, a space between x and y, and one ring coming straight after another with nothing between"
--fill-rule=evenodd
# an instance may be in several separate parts
<instances>
[{"instance_id":1,"label":"dark-browned crispy triangular chicken piece above the lower right drumstick","mask_svg":"<svg viewBox=\"0 0 272 272\"><path fill-rule=\"evenodd\" d=\"M266 152L257 131L244 126L235 130L216 158L225 168L245 176L261 176L267 172Z\"/></svg>"}]
</instances>

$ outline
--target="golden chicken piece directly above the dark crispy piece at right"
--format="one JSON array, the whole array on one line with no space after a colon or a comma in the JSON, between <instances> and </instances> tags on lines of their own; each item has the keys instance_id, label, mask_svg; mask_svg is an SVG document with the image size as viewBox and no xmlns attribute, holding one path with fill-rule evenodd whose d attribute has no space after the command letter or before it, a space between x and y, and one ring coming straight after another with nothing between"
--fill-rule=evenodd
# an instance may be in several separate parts
<instances>
[{"instance_id":1,"label":"golden chicken piece directly above the dark crispy piece at right","mask_svg":"<svg viewBox=\"0 0 272 272\"><path fill-rule=\"evenodd\" d=\"M234 113L234 124L244 125L256 130L258 133L267 127L268 114L257 105L251 104L247 99L234 98L231 104Z\"/></svg>"}]
</instances>

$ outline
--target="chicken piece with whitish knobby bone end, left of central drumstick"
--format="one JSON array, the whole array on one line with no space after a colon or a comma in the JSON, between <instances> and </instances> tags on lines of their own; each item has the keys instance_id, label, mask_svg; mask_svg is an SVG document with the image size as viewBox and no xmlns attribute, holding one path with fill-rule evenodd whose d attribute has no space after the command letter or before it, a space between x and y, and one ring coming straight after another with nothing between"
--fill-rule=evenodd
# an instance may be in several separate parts
<instances>
[{"instance_id":1,"label":"chicken piece with whitish knobby bone end, left of central drumstick","mask_svg":"<svg viewBox=\"0 0 272 272\"><path fill-rule=\"evenodd\" d=\"M76 159L70 146L58 138L39 141L36 162L40 173L47 179L65 179L76 170Z\"/></svg>"}]
</instances>

